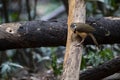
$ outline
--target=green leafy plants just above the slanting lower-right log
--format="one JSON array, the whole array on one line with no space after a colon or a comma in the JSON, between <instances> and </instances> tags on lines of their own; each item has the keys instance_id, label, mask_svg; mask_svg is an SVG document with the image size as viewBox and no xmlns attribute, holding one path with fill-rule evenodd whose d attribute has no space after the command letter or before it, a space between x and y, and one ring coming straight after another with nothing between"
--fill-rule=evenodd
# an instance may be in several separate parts
<instances>
[{"instance_id":1,"label":"green leafy plants just above the slanting lower-right log","mask_svg":"<svg viewBox=\"0 0 120 80\"><path fill-rule=\"evenodd\" d=\"M114 58L114 54L108 48L96 52L89 50L88 54L83 55L81 68L95 67L112 58Z\"/></svg>"}]
</instances>

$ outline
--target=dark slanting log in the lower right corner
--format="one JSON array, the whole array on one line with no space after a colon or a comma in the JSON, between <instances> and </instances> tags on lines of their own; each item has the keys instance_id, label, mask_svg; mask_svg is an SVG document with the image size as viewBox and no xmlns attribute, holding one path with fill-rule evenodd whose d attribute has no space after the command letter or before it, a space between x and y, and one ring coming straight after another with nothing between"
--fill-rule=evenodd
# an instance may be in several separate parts
<instances>
[{"instance_id":1,"label":"dark slanting log in the lower right corner","mask_svg":"<svg viewBox=\"0 0 120 80\"><path fill-rule=\"evenodd\" d=\"M120 57L112 59L104 64L88 69L80 74L79 80L101 80L120 71Z\"/></svg>"}]
</instances>

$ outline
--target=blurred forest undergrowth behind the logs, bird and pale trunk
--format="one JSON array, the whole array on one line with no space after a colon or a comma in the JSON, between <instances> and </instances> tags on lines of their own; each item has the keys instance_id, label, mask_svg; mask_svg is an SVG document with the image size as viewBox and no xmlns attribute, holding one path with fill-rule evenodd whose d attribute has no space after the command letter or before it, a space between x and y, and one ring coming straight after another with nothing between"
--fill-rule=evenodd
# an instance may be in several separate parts
<instances>
[{"instance_id":1,"label":"blurred forest undergrowth behind the logs, bird and pale trunk","mask_svg":"<svg viewBox=\"0 0 120 80\"><path fill-rule=\"evenodd\" d=\"M120 16L120 0L86 0L87 17ZM0 24L67 17L67 0L0 0ZM119 56L120 45L84 47L81 71ZM59 80L65 46L0 51L0 80Z\"/></svg>"}]
</instances>

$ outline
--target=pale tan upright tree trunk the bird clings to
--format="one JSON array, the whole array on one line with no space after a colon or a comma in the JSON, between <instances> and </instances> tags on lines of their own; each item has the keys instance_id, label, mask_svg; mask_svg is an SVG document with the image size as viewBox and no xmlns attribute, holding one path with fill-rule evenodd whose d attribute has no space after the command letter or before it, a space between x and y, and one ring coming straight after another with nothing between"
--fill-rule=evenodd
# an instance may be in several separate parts
<instances>
[{"instance_id":1,"label":"pale tan upright tree trunk the bird clings to","mask_svg":"<svg viewBox=\"0 0 120 80\"><path fill-rule=\"evenodd\" d=\"M71 40L73 32L70 30L71 23L85 23L84 0L69 0L68 36L66 53L64 57L63 75L61 80L79 80L80 64L82 58L82 45L75 46L80 39Z\"/></svg>"}]
</instances>

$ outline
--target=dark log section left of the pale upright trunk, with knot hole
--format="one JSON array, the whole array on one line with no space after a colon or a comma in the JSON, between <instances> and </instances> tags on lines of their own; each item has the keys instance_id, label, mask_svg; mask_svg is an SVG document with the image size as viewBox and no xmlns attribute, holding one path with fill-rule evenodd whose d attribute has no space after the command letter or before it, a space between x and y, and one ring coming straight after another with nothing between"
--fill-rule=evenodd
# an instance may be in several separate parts
<instances>
[{"instance_id":1,"label":"dark log section left of the pale upright trunk, with knot hole","mask_svg":"<svg viewBox=\"0 0 120 80\"><path fill-rule=\"evenodd\" d=\"M67 30L64 25L45 21L2 24L0 50L65 45Z\"/></svg>"}]
</instances>

